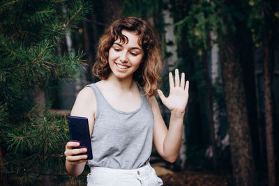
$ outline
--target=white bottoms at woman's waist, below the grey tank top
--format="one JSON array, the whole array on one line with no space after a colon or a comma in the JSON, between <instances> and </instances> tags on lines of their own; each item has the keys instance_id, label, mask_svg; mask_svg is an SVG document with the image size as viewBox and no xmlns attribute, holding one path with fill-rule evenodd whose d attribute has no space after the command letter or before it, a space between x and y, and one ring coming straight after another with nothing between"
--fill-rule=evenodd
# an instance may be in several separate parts
<instances>
[{"instance_id":1,"label":"white bottoms at woman's waist, below the grey tank top","mask_svg":"<svg viewBox=\"0 0 279 186\"><path fill-rule=\"evenodd\" d=\"M150 164L139 169L110 169L93 166L87 175L89 186L160 186L163 181Z\"/></svg>"}]
</instances>

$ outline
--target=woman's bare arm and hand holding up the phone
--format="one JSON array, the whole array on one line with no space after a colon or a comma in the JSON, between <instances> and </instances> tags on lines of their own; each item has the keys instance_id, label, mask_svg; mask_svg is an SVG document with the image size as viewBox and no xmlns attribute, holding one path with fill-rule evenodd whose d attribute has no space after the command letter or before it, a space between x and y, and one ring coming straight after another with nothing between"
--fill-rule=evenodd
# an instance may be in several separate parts
<instances>
[{"instance_id":1,"label":"woman's bare arm and hand holding up the phone","mask_svg":"<svg viewBox=\"0 0 279 186\"><path fill-rule=\"evenodd\" d=\"M70 113L70 116L81 116L88 118L90 136L93 132L93 125L96 113L96 98L90 87L86 87L80 91L75 100L75 104ZM75 146L80 146L77 142L69 141L66 144L66 169L72 176L79 176L84 170L87 162L86 155L77 155L85 153L86 148L73 149Z\"/></svg>"}]
</instances>

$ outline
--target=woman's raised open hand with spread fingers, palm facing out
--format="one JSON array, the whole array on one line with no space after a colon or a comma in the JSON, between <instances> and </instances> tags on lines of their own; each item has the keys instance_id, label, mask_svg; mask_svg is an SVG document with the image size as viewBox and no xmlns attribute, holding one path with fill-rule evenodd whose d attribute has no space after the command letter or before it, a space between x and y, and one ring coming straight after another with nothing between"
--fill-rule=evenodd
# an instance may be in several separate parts
<instances>
[{"instance_id":1,"label":"woman's raised open hand with spread fingers, palm facing out","mask_svg":"<svg viewBox=\"0 0 279 186\"><path fill-rule=\"evenodd\" d=\"M175 81L172 77L172 72L169 72L169 96L166 98L161 90L157 93L163 104L171 111L178 114L184 114L188 102L189 82L185 84L185 74L181 74L179 79L179 70L175 70Z\"/></svg>"}]
</instances>

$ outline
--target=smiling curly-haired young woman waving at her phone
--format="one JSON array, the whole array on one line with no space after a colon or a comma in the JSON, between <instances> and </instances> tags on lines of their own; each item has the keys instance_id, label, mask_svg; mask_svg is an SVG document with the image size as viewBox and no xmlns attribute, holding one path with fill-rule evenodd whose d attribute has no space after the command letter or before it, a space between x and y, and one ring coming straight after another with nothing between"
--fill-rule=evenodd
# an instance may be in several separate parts
<instances>
[{"instance_id":1,"label":"smiling curly-haired young woman waving at her phone","mask_svg":"<svg viewBox=\"0 0 279 186\"><path fill-rule=\"evenodd\" d=\"M71 116L88 118L93 160L86 148L66 144L66 169L79 176L87 162L88 185L163 185L149 164L152 143L168 162L181 148L183 117L189 82L185 74L169 73L169 96L157 90L163 63L158 37L152 26L137 17L116 20L98 43L93 73L100 82L77 95ZM155 98L158 93L171 111L169 129Z\"/></svg>"}]
</instances>

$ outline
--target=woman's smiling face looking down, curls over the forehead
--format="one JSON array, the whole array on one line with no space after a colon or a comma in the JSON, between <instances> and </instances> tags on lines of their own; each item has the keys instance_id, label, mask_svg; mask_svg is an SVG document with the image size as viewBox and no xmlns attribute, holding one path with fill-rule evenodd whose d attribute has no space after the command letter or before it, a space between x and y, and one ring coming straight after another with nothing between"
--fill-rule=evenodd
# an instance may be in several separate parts
<instances>
[{"instance_id":1,"label":"woman's smiling face looking down, curls over the forehead","mask_svg":"<svg viewBox=\"0 0 279 186\"><path fill-rule=\"evenodd\" d=\"M139 68L144 51L137 43L139 36L134 32L123 30L122 34L128 38L128 42L114 41L109 50L109 64L112 75L120 78L133 78L133 73Z\"/></svg>"}]
</instances>

